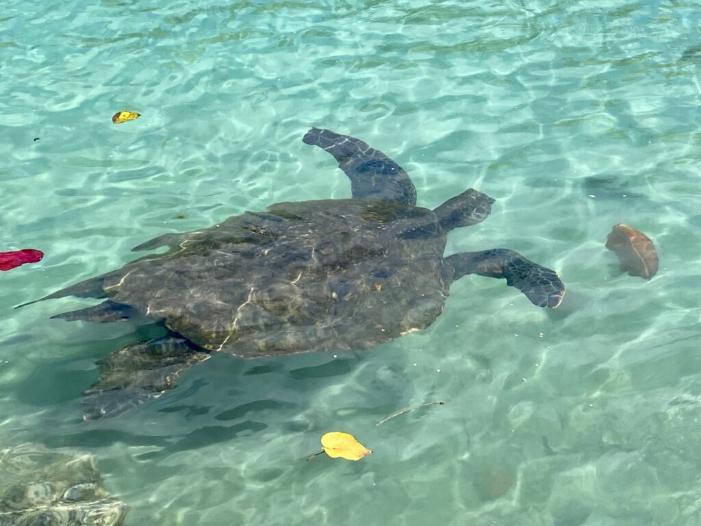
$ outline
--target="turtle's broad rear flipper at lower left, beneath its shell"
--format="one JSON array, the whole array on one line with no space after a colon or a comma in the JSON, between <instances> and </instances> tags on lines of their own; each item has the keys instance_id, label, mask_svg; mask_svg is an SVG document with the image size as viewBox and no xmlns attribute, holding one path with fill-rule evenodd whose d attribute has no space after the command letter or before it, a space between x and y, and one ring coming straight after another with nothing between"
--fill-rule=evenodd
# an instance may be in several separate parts
<instances>
[{"instance_id":1,"label":"turtle's broad rear flipper at lower left, beneath its shell","mask_svg":"<svg viewBox=\"0 0 701 526\"><path fill-rule=\"evenodd\" d=\"M100 379L83 393L83 419L116 417L175 387L180 373L210 358L186 339L130 344L97 361Z\"/></svg>"}]
</instances>

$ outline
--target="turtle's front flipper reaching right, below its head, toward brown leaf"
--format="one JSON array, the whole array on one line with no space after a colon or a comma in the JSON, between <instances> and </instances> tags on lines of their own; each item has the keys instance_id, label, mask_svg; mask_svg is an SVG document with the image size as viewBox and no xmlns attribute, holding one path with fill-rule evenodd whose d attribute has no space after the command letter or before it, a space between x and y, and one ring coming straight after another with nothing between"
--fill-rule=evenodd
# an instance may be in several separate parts
<instances>
[{"instance_id":1,"label":"turtle's front flipper reaching right, below its head, toward brown leaf","mask_svg":"<svg viewBox=\"0 0 701 526\"><path fill-rule=\"evenodd\" d=\"M565 295L565 285L554 270L541 267L508 248L462 252L443 261L447 278L456 280L466 274L506 278L507 285L516 287L538 306L554 309Z\"/></svg>"}]
</instances>

